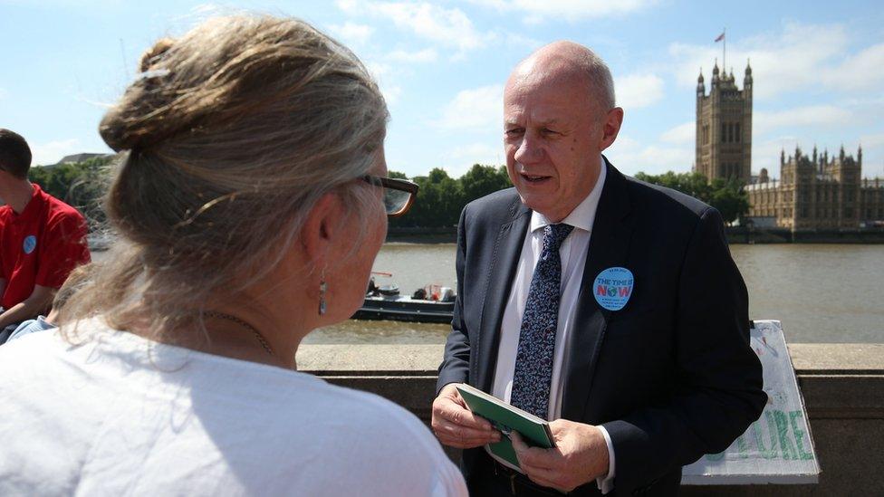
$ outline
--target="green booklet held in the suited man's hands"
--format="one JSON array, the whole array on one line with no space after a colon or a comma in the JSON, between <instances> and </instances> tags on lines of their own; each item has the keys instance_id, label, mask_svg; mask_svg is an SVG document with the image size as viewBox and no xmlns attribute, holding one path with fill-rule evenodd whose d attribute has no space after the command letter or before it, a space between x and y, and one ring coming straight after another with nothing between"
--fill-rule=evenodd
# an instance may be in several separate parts
<instances>
[{"instance_id":1,"label":"green booklet held in the suited man's hands","mask_svg":"<svg viewBox=\"0 0 884 497\"><path fill-rule=\"evenodd\" d=\"M515 456L513 443L510 441L510 433L513 431L519 432L525 443L531 446L539 446L544 449L555 446L552 441L550 424L545 419L511 406L478 388L466 385L466 383L458 383L455 387L460 392L460 397L464 397L464 402L471 411L490 421L504 435L500 438L500 442L487 445L487 450L500 458L504 465L524 473L519 467L519 460Z\"/></svg>"}]
</instances>

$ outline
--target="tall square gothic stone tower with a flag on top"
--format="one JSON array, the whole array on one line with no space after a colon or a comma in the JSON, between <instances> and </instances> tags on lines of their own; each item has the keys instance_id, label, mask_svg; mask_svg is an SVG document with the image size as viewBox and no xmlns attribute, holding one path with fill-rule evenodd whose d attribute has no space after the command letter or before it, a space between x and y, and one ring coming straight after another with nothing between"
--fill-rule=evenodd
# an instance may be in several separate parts
<instances>
[{"instance_id":1,"label":"tall square gothic stone tower with a flag on top","mask_svg":"<svg viewBox=\"0 0 884 497\"><path fill-rule=\"evenodd\" d=\"M734 72L719 76L718 63L706 95L703 72L697 78L697 158L694 170L709 181L736 178L749 184L752 170L752 68L746 64L743 90Z\"/></svg>"}]
</instances>

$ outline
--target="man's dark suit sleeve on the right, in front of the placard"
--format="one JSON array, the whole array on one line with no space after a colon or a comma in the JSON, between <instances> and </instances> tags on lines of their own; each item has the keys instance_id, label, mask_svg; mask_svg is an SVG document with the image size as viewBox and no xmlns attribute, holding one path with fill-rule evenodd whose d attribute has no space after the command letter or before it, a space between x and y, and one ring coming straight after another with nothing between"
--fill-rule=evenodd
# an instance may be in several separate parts
<instances>
[{"instance_id":1,"label":"man's dark suit sleeve on the right, in front of the placard","mask_svg":"<svg viewBox=\"0 0 884 497\"><path fill-rule=\"evenodd\" d=\"M619 491L648 486L703 454L724 451L767 400L761 363L749 348L745 283L714 208L697 222L677 292L677 386L670 401L603 425L617 454Z\"/></svg>"}]
</instances>

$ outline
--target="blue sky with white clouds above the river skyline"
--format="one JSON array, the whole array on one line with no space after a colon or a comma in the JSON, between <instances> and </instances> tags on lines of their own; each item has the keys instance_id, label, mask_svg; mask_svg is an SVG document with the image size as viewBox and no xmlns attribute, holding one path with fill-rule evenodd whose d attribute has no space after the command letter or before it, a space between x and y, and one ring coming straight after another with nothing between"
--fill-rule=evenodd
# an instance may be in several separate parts
<instances>
[{"instance_id":1,"label":"blue sky with white clouds above the river skyline","mask_svg":"<svg viewBox=\"0 0 884 497\"><path fill-rule=\"evenodd\" d=\"M501 91L514 64L559 39L610 65L620 170L689 171L695 86L710 78L727 29L727 69L754 75L753 170L779 176L780 148L848 153L884 177L884 9L878 2L462 0L205 3L0 0L0 127L22 133L37 164L103 152L97 127L164 35L238 9L294 15L347 43L379 79L392 119L389 167L415 176L504 162Z\"/></svg>"}]
</instances>

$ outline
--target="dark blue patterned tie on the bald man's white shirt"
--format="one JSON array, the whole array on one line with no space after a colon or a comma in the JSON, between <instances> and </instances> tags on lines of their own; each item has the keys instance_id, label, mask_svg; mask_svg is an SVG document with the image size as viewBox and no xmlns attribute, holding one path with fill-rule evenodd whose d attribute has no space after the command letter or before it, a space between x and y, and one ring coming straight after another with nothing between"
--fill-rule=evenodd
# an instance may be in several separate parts
<instances>
[{"instance_id":1,"label":"dark blue patterned tie on the bald man's white shirt","mask_svg":"<svg viewBox=\"0 0 884 497\"><path fill-rule=\"evenodd\" d=\"M559 247L572 229L572 225L561 224L543 228L543 252L534 266L515 355L510 403L542 419L546 419L550 405L552 353L559 322L562 287Z\"/></svg>"}]
</instances>

